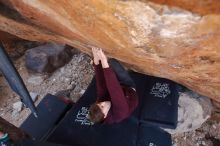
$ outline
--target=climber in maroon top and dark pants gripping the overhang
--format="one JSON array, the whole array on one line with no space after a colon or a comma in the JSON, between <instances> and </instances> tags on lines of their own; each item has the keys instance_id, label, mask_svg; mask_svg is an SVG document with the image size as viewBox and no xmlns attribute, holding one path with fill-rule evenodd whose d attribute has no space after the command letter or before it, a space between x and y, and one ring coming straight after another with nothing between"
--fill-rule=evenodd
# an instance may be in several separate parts
<instances>
[{"instance_id":1,"label":"climber in maroon top and dark pants gripping the overhang","mask_svg":"<svg viewBox=\"0 0 220 146\"><path fill-rule=\"evenodd\" d=\"M138 105L135 84L117 60L108 63L102 49L93 47L92 53L97 100L90 106L88 118L94 123L118 123Z\"/></svg>"}]
</instances>

